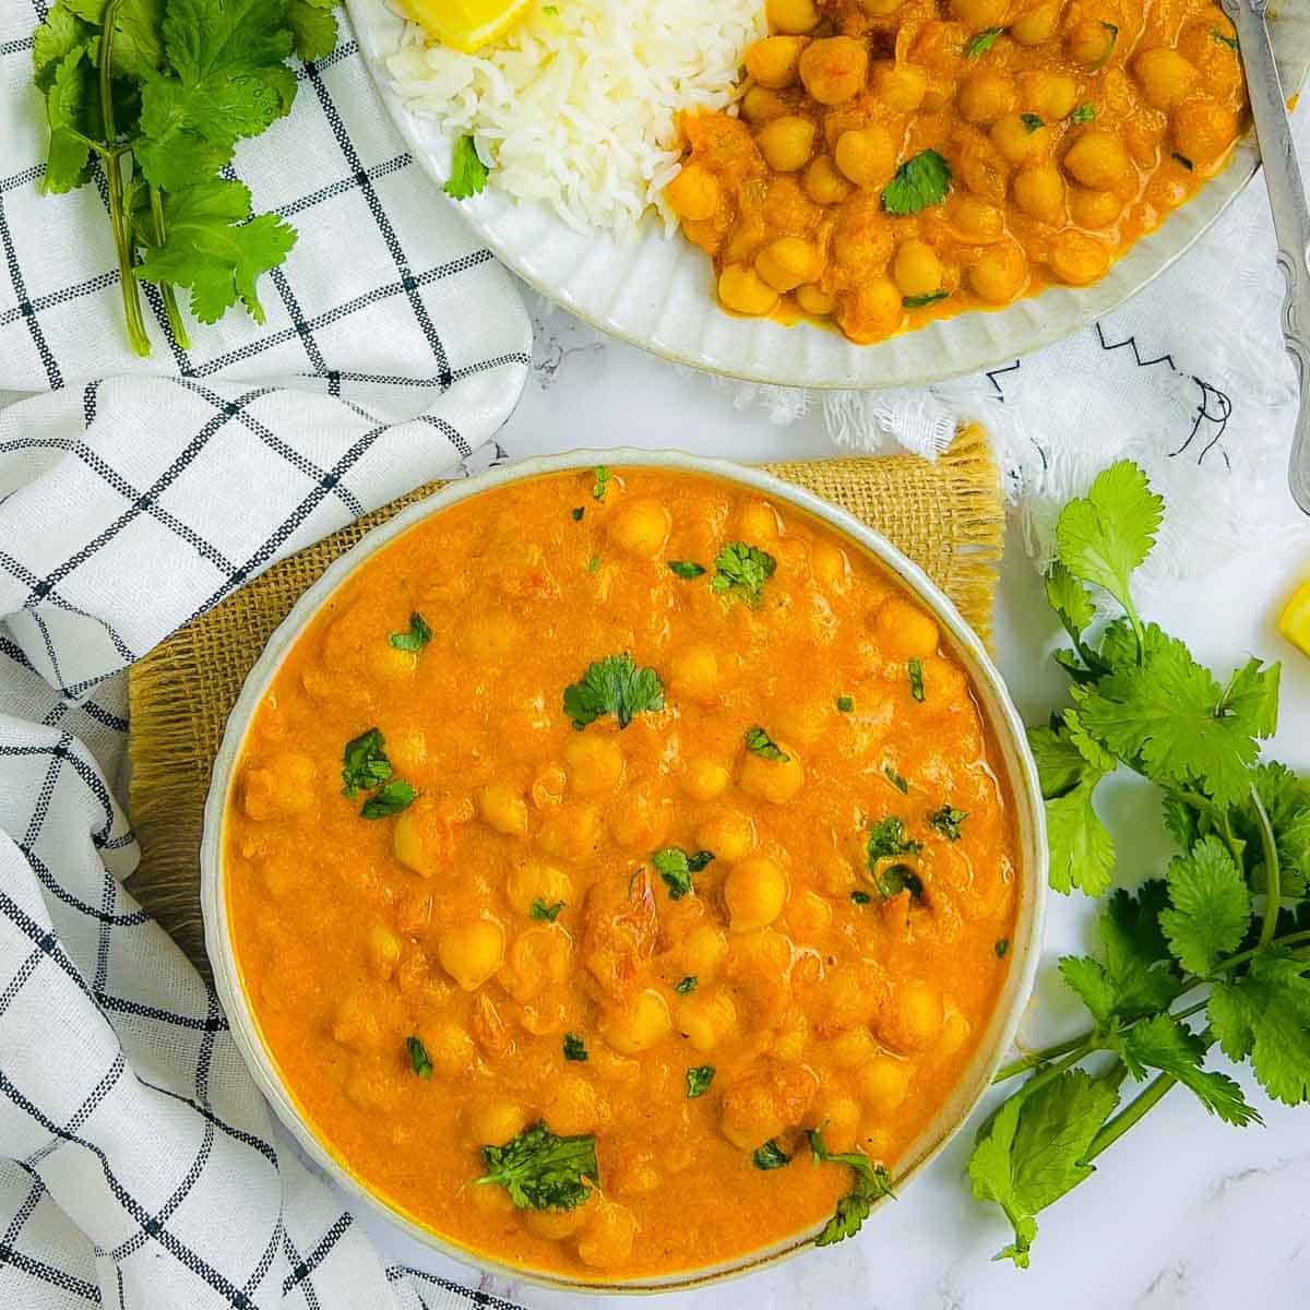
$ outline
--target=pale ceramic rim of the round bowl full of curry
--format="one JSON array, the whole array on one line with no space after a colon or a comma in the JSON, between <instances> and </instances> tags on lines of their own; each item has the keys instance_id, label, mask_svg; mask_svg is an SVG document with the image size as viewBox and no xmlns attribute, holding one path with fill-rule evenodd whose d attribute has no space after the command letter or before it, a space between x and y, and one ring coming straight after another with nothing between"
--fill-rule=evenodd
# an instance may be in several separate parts
<instances>
[{"instance_id":1,"label":"pale ceramic rim of the round bowl full of curry","mask_svg":"<svg viewBox=\"0 0 1310 1310\"><path fill-rule=\"evenodd\" d=\"M1018 908L1010 948L1010 968L1001 994L988 1020L979 1049L956 1086L938 1107L920 1137L907 1149L910 1163L897 1171L897 1189L922 1172L954 1140L973 1115L1002 1058L1014 1044L1028 998L1032 994L1040 959L1047 908L1048 850L1045 811L1036 765L1027 744L1026 730L1005 683L977 634L968 626L948 596L927 574L903 554L882 533L870 528L829 500L786 482L758 468L730 460L690 455L676 449L572 449L538 456L514 464L495 465L469 478L457 478L434 495L407 506L386 523L369 531L360 541L334 559L308 587L278 625L242 684L223 738L215 753L204 804L200 840L200 909L204 918L204 947L214 971L214 985L228 1018L233 1041L255 1086L269 1100L283 1127L297 1145L348 1196L363 1201L373 1213L398 1227L430 1250L438 1251L479 1273L503 1275L552 1290L621 1296L689 1290L717 1284L777 1264L812 1244L821 1224L791 1234L768 1248L751 1251L732 1260L673 1275L643 1276L624 1281L588 1281L542 1269L531 1269L498 1260L495 1256L443 1237L421 1224L398 1204L368 1187L310 1125L299 1103L283 1085L276 1062L263 1041L258 1020L241 982L241 972L228 925L228 905L223 867L223 836L234 766L245 744L254 711L262 702L283 660L296 646L305 627L346 579L368 559L403 536L410 528L441 514L472 496L495 491L553 473L578 472L605 464L616 469L654 468L710 477L743 486L790 503L854 540L887 569L916 599L925 603L950 634L952 651L962 659L975 694L992 727L1005 760L1015 807L1018 844Z\"/></svg>"}]
</instances>

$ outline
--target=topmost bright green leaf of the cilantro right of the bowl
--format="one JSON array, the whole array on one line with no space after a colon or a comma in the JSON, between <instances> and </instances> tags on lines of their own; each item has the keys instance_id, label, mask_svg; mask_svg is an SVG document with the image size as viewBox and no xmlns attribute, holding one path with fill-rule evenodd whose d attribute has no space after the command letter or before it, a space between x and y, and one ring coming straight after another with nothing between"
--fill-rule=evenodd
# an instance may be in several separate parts
<instances>
[{"instance_id":1,"label":"topmost bright green leaf of the cilantro right of the bowl","mask_svg":"<svg viewBox=\"0 0 1310 1310\"><path fill-rule=\"evenodd\" d=\"M1150 553L1165 502L1146 474L1120 460L1099 473L1086 496L1070 500L1056 524L1060 562L1083 582L1110 592L1140 627L1129 575Z\"/></svg>"}]
</instances>

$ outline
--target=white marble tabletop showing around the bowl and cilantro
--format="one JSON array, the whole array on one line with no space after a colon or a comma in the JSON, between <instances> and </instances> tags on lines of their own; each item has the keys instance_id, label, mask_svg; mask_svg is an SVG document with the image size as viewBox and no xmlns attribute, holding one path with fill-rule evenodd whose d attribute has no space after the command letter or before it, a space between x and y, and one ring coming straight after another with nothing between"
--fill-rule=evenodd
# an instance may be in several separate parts
<instances>
[{"instance_id":1,"label":"white marble tabletop showing around the bowl and cilantro","mask_svg":"<svg viewBox=\"0 0 1310 1310\"><path fill-rule=\"evenodd\" d=\"M542 313L537 329L532 380L500 434L511 457L618 444L675 445L744 461L833 453L819 415L772 426L760 410L735 410L731 392L710 379L599 341L559 310ZM1310 662L1277 637L1273 617L1284 593L1307 574L1310 527L1273 557L1235 559L1218 572L1138 597L1146 614L1216 667L1233 667L1247 652L1285 662L1281 730L1271 749L1302 769L1310 768ZM1062 680L1044 658L1053 645L1055 622L1011 531L998 652L1030 720L1062 702ZM1127 880L1162 867L1165 838L1149 789L1125 785L1112 793L1107 821L1128 857ZM1090 903L1052 900L1041 982L1026 1027L1034 1040L1056 1040L1078 1024L1053 965L1060 954L1090 945ZM965 1132L857 1239L717 1289L656 1298L659 1310L1310 1306L1310 1108L1273 1106L1243 1081L1264 1114L1264 1128L1229 1128L1175 1090L1102 1158L1094 1178L1041 1216L1027 1273L990 1263L1007 1233L1000 1216L968 1193ZM388 1259L474 1281L470 1271L360 1218ZM499 1280L482 1285L534 1310L563 1310L578 1301Z\"/></svg>"}]
</instances>

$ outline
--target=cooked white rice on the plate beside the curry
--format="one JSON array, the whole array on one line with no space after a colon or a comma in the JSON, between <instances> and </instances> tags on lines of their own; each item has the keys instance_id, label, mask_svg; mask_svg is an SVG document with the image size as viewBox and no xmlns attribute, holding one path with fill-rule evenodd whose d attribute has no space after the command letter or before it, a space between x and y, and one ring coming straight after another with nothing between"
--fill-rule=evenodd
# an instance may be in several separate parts
<instances>
[{"instance_id":1,"label":"cooked white rice on the plate beside the curry","mask_svg":"<svg viewBox=\"0 0 1310 1310\"><path fill-rule=\"evenodd\" d=\"M388 69L409 109L472 135L491 181L578 231L637 234L677 174L676 115L731 103L762 0L541 0L476 55L406 24Z\"/></svg>"}]
</instances>

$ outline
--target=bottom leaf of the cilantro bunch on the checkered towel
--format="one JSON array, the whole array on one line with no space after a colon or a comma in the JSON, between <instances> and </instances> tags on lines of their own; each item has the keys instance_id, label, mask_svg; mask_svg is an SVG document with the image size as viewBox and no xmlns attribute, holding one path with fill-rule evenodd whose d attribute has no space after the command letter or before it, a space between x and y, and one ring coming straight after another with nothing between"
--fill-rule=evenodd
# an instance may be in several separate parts
<instances>
[{"instance_id":1,"label":"bottom leaf of the cilantro bunch on the checkered towel","mask_svg":"<svg viewBox=\"0 0 1310 1310\"><path fill-rule=\"evenodd\" d=\"M249 214L250 193L225 178L165 195L168 236L162 245L148 246L136 276L190 287L191 313L200 322L217 322L240 300L262 324L255 282L286 259L296 233L275 214L244 221Z\"/></svg>"}]
</instances>

